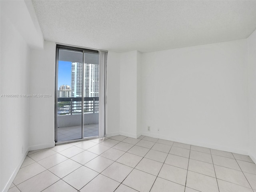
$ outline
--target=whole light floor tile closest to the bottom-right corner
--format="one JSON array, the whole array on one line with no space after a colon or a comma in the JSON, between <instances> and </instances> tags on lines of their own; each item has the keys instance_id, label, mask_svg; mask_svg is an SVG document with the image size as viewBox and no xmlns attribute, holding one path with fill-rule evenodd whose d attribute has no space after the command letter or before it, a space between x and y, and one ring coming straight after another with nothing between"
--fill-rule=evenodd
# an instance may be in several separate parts
<instances>
[{"instance_id":1,"label":"whole light floor tile closest to the bottom-right corner","mask_svg":"<svg viewBox=\"0 0 256 192\"><path fill-rule=\"evenodd\" d=\"M234 184L242 185L245 187L250 187L242 171L237 171L234 169L221 167L218 165L214 165L214 168L215 168L216 177L218 179L232 182Z\"/></svg>"}]
</instances>

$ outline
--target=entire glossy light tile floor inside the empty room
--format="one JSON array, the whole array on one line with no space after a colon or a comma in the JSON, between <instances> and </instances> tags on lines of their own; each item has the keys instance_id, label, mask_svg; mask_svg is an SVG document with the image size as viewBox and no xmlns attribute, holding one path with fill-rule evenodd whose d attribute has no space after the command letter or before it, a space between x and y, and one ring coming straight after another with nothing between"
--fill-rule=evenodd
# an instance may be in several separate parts
<instances>
[{"instance_id":1,"label":"entire glossy light tile floor inside the empty room","mask_svg":"<svg viewBox=\"0 0 256 192\"><path fill-rule=\"evenodd\" d=\"M140 136L30 151L8 192L256 192L249 156Z\"/></svg>"}]
</instances>

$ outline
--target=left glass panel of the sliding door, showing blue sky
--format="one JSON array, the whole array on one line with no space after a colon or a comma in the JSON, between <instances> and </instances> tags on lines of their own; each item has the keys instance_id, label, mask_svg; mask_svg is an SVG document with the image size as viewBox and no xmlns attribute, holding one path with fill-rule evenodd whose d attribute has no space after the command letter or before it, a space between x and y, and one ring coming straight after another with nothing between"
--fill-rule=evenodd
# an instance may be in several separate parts
<instances>
[{"instance_id":1,"label":"left glass panel of the sliding door, showing blue sky","mask_svg":"<svg viewBox=\"0 0 256 192\"><path fill-rule=\"evenodd\" d=\"M58 49L56 142L81 139L83 52Z\"/></svg>"}]
</instances>

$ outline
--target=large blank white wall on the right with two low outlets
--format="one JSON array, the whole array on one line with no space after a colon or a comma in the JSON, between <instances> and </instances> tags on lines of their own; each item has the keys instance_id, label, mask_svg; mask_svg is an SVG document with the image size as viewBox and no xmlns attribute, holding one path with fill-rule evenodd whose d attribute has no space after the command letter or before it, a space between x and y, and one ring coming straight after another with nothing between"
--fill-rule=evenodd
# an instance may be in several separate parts
<instances>
[{"instance_id":1,"label":"large blank white wall on the right with two low outlets","mask_svg":"<svg viewBox=\"0 0 256 192\"><path fill-rule=\"evenodd\" d=\"M246 46L244 39L142 54L142 132L247 154Z\"/></svg>"}]
</instances>

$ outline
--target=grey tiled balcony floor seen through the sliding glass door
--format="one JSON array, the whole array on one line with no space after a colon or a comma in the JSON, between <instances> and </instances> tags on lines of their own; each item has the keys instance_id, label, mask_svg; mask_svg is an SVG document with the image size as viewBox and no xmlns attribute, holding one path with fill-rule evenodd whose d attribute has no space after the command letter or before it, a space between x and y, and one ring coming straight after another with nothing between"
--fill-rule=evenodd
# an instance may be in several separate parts
<instances>
[{"instance_id":1,"label":"grey tiled balcony floor seen through the sliding glass door","mask_svg":"<svg viewBox=\"0 0 256 192\"><path fill-rule=\"evenodd\" d=\"M81 138L81 126L70 126L58 128L58 142ZM84 137L99 136L99 124L84 125Z\"/></svg>"}]
</instances>

